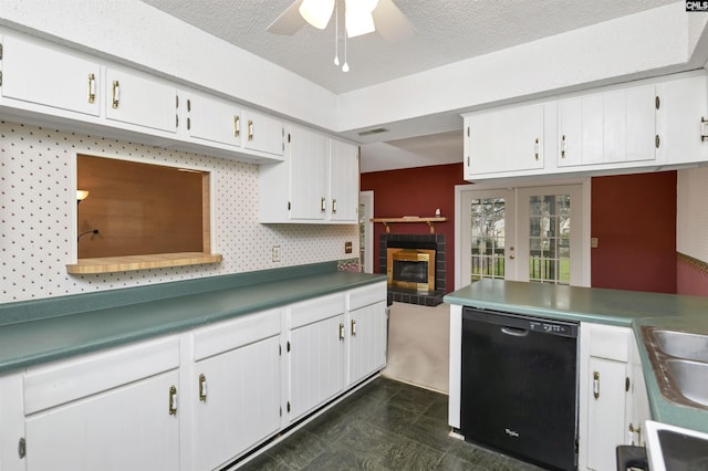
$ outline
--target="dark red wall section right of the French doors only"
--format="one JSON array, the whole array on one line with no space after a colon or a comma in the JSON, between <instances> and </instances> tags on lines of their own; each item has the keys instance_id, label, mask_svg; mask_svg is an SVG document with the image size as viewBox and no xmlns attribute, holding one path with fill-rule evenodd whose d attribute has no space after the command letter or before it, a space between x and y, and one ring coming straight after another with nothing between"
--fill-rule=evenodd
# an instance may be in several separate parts
<instances>
[{"instance_id":1,"label":"dark red wall section right of the French doors only","mask_svg":"<svg viewBox=\"0 0 708 471\"><path fill-rule=\"evenodd\" d=\"M676 171L592 179L592 286L676 293Z\"/></svg>"}]
</instances>

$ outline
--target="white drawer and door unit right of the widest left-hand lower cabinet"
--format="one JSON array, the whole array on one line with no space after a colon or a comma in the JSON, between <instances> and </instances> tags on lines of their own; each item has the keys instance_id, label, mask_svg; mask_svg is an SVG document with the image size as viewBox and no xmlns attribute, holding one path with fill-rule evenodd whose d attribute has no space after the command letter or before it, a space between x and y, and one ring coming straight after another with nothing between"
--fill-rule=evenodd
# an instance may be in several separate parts
<instances>
[{"instance_id":1,"label":"white drawer and door unit right of the widest left-hand lower cabinet","mask_svg":"<svg viewBox=\"0 0 708 471\"><path fill-rule=\"evenodd\" d=\"M280 310L194 334L195 469L237 458L280 428Z\"/></svg>"}]
</instances>

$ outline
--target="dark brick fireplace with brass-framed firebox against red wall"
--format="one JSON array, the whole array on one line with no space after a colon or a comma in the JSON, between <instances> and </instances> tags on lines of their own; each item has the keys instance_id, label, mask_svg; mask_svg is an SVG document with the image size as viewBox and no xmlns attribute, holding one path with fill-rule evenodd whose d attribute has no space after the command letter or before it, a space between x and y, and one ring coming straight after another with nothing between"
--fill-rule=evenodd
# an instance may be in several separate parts
<instances>
[{"instance_id":1,"label":"dark brick fireplace with brass-framed firebox against red wall","mask_svg":"<svg viewBox=\"0 0 708 471\"><path fill-rule=\"evenodd\" d=\"M378 272L389 274L388 302L423 306L441 304L445 295L445 236L382 234ZM398 262L394 270L396 259ZM424 281L426 274L429 280Z\"/></svg>"}]
</instances>

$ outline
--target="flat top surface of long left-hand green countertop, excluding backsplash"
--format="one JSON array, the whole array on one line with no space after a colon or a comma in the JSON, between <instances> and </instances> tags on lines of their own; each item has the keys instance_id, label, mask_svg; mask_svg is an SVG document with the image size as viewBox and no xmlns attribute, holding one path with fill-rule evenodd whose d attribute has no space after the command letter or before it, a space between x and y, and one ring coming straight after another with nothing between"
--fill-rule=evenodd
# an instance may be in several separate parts
<instances>
[{"instance_id":1,"label":"flat top surface of long left-hand green countertop, excluding backsplash","mask_svg":"<svg viewBox=\"0 0 708 471\"><path fill-rule=\"evenodd\" d=\"M82 307L83 311L76 313L8 323L0 325L0 373L185 332L385 280L385 275L353 272L308 273L113 307ZM165 286L170 290L169 283ZM124 293L119 294L129 295L131 290L121 290ZM76 295L79 301L73 304L81 304L81 296Z\"/></svg>"}]
</instances>

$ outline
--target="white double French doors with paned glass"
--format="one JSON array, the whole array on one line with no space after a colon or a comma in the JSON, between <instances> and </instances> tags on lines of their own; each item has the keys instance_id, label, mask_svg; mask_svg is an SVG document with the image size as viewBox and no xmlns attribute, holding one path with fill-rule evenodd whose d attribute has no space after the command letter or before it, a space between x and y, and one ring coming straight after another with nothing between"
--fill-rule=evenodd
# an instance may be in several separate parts
<instances>
[{"instance_id":1,"label":"white double French doors with paned glass","mask_svg":"<svg viewBox=\"0 0 708 471\"><path fill-rule=\"evenodd\" d=\"M475 187L457 199L457 287L481 279L590 285L584 184Z\"/></svg>"}]
</instances>

